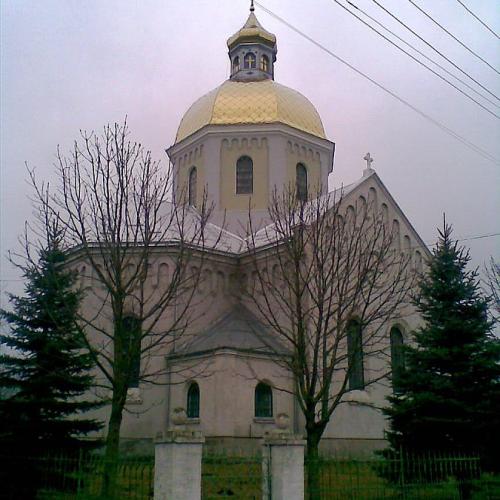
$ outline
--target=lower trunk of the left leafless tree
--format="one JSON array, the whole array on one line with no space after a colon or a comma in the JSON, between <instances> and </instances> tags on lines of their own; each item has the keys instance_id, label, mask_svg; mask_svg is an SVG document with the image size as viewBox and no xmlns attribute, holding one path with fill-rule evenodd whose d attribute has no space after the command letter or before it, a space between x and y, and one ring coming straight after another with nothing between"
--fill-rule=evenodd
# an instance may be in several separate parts
<instances>
[{"instance_id":1,"label":"lower trunk of the left leafless tree","mask_svg":"<svg viewBox=\"0 0 500 500\"><path fill-rule=\"evenodd\" d=\"M104 481L102 486L103 498L115 498L116 495L116 466L120 447L120 428L122 425L123 408L127 389L115 390L111 401L111 416L108 422L108 435L106 437L106 453L104 463Z\"/></svg>"}]
</instances>

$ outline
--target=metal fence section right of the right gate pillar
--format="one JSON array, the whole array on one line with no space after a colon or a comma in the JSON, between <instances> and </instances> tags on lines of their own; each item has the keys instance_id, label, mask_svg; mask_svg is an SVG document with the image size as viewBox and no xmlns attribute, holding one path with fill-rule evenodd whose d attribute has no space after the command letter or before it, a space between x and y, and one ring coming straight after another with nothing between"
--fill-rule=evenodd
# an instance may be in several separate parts
<instances>
[{"instance_id":1,"label":"metal fence section right of the right gate pillar","mask_svg":"<svg viewBox=\"0 0 500 500\"><path fill-rule=\"evenodd\" d=\"M307 465L307 464L306 464ZM500 499L500 478L481 472L478 457L399 455L376 460L322 457L313 464L319 475L306 498L333 499Z\"/></svg>"}]
</instances>

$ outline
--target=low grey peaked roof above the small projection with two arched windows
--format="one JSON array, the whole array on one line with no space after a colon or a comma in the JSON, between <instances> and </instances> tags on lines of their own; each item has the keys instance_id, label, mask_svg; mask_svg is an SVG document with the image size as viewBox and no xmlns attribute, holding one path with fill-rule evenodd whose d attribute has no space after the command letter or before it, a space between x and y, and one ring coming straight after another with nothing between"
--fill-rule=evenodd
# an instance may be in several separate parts
<instances>
[{"instance_id":1,"label":"low grey peaked roof above the small projection with two arched windows","mask_svg":"<svg viewBox=\"0 0 500 500\"><path fill-rule=\"evenodd\" d=\"M224 349L267 355L288 353L266 326L238 304L170 357L182 358Z\"/></svg>"}]
</instances>

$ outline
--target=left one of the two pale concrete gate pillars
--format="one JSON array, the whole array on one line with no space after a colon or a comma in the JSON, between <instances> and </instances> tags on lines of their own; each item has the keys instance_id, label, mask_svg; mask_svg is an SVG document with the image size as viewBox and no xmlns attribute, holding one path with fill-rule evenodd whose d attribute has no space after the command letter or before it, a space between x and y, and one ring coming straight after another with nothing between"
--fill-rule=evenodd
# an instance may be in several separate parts
<instances>
[{"instance_id":1,"label":"left one of the two pale concrete gate pillars","mask_svg":"<svg viewBox=\"0 0 500 500\"><path fill-rule=\"evenodd\" d=\"M201 499L204 442L199 431L170 430L156 437L154 500Z\"/></svg>"}]
</instances>

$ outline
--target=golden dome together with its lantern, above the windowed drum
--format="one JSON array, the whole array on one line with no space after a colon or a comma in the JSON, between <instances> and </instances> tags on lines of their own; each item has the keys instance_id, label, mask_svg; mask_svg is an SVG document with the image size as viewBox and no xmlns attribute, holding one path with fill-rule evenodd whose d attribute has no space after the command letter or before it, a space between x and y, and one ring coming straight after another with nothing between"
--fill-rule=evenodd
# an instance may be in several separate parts
<instances>
[{"instance_id":1,"label":"golden dome together with its lantern, above the windowed drum","mask_svg":"<svg viewBox=\"0 0 500 500\"><path fill-rule=\"evenodd\" d=\"M253 5L243 27L227 45L230 78L198 99L177 130L179 143L208 125L283 124L325 139L321 118L296 90L274 81L276 36L265 30Z\"/></svg>"}]
</instances>

